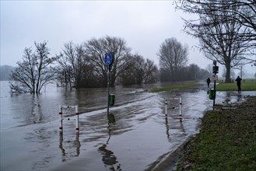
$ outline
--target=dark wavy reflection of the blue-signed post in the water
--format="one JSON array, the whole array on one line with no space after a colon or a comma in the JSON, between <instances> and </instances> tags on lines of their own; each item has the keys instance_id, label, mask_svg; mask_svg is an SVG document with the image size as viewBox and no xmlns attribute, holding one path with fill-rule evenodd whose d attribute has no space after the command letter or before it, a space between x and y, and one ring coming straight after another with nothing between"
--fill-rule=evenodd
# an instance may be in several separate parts
<instances>
[{"instance_id":1,"label":"dark wavy reflection of the blue-signed post in the water","mask_svg":"<svg viewBox=\"0 0 256 171\"><path fill-rule=\"evenodd\" d=\"M110 141L112 126L115 124L115 118L113 113L107 114L108 119L108 138L106 144L103 144L98 149L98 152L102 155L102 161L106 169L109 170L121 170L121 163L117 161L117 157L114 152L107 149L108 142Z\"/></svg>"}]
</instances>

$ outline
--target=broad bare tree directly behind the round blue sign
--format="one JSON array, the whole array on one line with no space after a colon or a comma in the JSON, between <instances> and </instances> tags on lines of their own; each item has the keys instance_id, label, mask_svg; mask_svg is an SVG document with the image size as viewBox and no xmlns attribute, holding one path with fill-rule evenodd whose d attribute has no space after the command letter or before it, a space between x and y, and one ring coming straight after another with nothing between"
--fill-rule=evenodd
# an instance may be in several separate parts
<instances>
[{"instance_id":1,"label":"broad bare tree directly behind the round blue sign","mask_svg":"<svg viewBox=\"0 0 256 171\"><path fill-rule=\"evenodd\" d=\"M109 36L100 39L93 38L87 41L84 47L86 48L86 57L90 65L93 65L94 72L102 80L102 86L107 86L107 66L103 61L105 54L114 53L110 86L114 86L118 75L130 67L128 64L132 59L130 55L131 48L127 47L126 42L121 38Z\"/></svg>"}]
</instances>

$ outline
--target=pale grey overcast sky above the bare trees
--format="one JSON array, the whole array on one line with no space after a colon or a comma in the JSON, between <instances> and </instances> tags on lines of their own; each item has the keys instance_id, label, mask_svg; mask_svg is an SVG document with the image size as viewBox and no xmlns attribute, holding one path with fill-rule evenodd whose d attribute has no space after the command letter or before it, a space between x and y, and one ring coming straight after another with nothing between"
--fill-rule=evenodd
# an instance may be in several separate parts
<instances>
[{"instance_id":1,"label":"pale grey overcast sky above the bare trees","mask_svg":"<svg viewBox=\"0 0 256 171\"><path fill-rule=\"evenodd\" d=\"M185 14L166 1L2 1L0 65L16 66L25 47L47 41L51 56L65 43L82 44L105 36L124 39L133 54L159 65L156 53L164 40L175 37L188 44L188 65L206 68L212 61L182 32ZM248 66L251 71L251 65ZM221 67L220 67L221 70Z\"/></svg>"}]
</instances>

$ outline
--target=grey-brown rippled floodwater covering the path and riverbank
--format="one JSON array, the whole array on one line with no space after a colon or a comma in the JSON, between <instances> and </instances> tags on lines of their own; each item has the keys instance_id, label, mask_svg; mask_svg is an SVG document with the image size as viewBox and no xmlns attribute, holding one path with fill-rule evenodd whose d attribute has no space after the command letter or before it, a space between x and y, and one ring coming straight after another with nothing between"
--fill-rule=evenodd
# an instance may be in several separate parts
<instances>
[{"instance_id":1,"label":"grey-brown rippled floodwater covering the path and riverbank","mask_svg":"<svg viewBox=\"0 0 256 171\"><path fill-rule=\"evenodd\" d=\"M160 84L116 86L110 89L115 105L109 114L106 88L51 85L40 96L11 96L8 82L0 83L1 170L157 170L198 133L205 110L212 109L205 83L160 93L146 92ZM216 103L241 102L247 95L256 92L218 92ZM78 133L75 111L68 109L59 134L60 105L79 105Z\"/></svg>"}]
</instances>

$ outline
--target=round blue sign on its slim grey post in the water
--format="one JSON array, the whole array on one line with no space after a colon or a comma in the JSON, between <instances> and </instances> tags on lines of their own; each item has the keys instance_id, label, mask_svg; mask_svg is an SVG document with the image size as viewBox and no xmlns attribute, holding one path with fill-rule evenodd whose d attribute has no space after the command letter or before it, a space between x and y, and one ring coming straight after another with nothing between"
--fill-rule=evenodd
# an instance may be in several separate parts
<instances>
[{"instance_id":1,"label":"round blue sign on its slim grey post in the water","mask_svg":"<svg viewBox=\"0 0 256 171\"><path fill-rule=\"evenodd\" d=\"M107 65L107 114L109 113L109 101L110 101L110 69L114 61L114 54L105 54L104 62Z\"/></svg>"}]
</instances>

